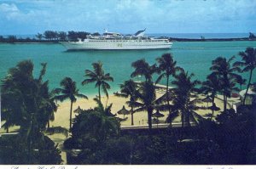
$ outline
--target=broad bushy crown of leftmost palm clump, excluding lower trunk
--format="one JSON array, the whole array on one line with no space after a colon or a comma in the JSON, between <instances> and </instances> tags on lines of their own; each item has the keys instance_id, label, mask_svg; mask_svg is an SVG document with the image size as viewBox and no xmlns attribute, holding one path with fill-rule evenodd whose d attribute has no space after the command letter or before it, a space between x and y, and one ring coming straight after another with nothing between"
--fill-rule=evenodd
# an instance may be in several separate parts
<instances>
[{"instance_id":1,"label":"broad bushy crown of leftmost palm clump, excluding lower trunk","mask_svg":"<svg viewBox=\"0 0 256 169\"><path fill-rule=\"evenodd\" d=\"M49 87L48 81L43 82L46 64L38 78L32 75L33 63L31 60L21 61L3 79L2 104L3 115L6 118L6 127L20 126L21 131L27 131L30 126L32 113L37 122L38 132L44 129L49 121ZM14 106L15 104L15 106ZM52 106L54 106L52 104ZM56 107L55 107L56 109ZM55 110L54 109L54 110Z\"/></svg>"}]
</instances>

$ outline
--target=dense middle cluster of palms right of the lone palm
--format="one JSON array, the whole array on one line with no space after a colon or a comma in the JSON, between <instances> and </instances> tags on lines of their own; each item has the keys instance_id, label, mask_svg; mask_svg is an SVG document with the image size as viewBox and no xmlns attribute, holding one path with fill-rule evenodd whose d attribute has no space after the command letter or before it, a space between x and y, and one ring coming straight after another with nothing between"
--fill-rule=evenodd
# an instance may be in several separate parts
<instances>
[{"instance_id":1,"label":"dense middle cluster of palms right of the lone palm","mask_svg":"<svg viewBox=\"0 0 256 169\"><path fill-rule=\"evenodd\" d=\"M139 111L148 112L148 128L152 130L152 115L154 110L168 110L168 121L171 122L178 115L182 116L183 124L185 120L195 120L200 115L195 113L195 103L197 99L191 101L192 97L196 97L195 92L199 92L196 86L198 81L193 81L191 77L181 67L178 67L177 62L173 60L172 54L163 54L156 59L158 64L149 65L144 59L139 59L131 64L135 70L131 73L131 77L144 76L144 82L133 82L131 79L120 85L120 93L115 93L120 97L130 97L127 102L131 106L131 125L133 122L133 114ZM160 75L156 82L153 82L153 75ZM166 77L166 93L160 98L156 98L156 84ZM176 80L172 81L175 88L170 89L170 78L174 77ZM170 103L172 101L172 104Z\"/></svg>"}]
</instances>

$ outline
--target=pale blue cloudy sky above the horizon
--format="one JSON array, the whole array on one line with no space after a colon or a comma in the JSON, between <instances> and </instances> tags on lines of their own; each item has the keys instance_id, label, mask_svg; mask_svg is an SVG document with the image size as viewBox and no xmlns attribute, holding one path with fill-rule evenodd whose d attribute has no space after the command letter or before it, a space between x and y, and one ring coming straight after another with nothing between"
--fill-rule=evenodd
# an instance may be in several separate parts
<instances>
[{"instance_id":1,"label":"pale blue cloudy sky above the horizon","mask_svg":"<svg viewBox=\"0 0 256 169\"><path fill-rule=\"evenodd\" d=\"M148 32L248 31L256 29L255 0L3 0L0 27L20 26L34 32L122 31L147 27ZM236 23L237 26L233 26ZM218 25L218 26L217 26ZM232 29L226 28L232 25ZM218 29L216 29L218 27ZM25 28L20 28L24 31ZM1 30L0 30L1 34Z\"/></svg>"}]
</instances>

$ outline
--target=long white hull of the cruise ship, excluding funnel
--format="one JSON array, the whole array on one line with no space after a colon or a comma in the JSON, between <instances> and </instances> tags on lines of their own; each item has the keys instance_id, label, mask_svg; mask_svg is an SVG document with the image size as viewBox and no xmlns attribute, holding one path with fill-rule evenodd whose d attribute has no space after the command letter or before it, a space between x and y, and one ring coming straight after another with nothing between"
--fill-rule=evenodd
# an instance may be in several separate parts
<instances>
[{"instance_id":1,"label":"long white hull of the cruise ship, excluding funnel","mask_svg":"<svg viewBox=\"0 0 256 169\"><path fill-rule=\"evenodd\" d=\"M171 48L167 40L90 40L61 42L67 50L139 50Z\"/></svg>"}]
</instances>

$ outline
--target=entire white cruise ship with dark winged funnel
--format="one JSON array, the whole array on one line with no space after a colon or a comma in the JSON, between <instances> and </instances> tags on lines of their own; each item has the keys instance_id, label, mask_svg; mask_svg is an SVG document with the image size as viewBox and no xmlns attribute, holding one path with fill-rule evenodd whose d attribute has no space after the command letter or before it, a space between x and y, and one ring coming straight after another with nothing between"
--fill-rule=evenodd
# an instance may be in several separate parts
<instances>
[{"instance_id":1,"label":"entire white cruise ship with dark winged funnel","mask_svg":"<svg viewBox=\"0 0 256 169\"><path fill-rule=\"evenodd\" d=\"M102 36L88 36L84 40L61 42L61 44L67 50L131 50L172 47L172 42L169 42L168 39L144 37L145 30L137 31L136 34L129 36L122 36L116 32L106 31Z\"/></svg>"}]
</instances>

